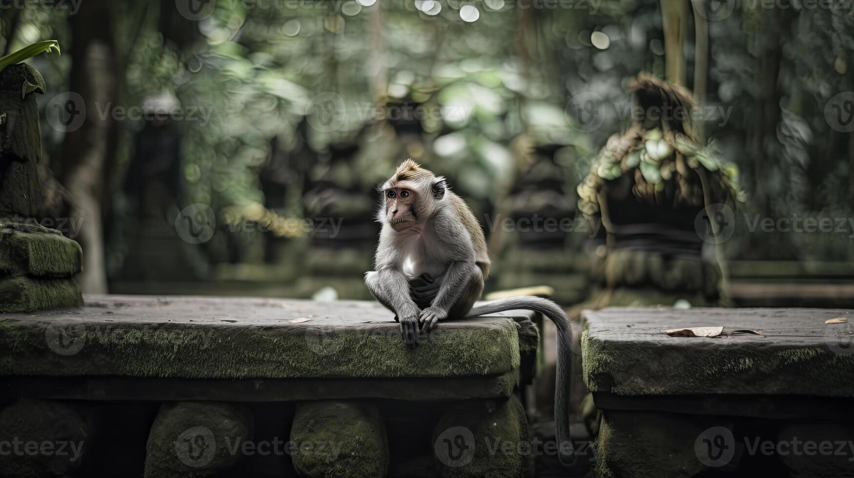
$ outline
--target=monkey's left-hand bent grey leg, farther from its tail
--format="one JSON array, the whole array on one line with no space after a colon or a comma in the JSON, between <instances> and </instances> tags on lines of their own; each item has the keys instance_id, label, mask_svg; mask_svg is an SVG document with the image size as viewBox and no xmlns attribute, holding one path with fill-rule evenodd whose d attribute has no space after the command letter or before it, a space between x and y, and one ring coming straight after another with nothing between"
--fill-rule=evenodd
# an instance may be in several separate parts
<instances>
[{"instance_id":1,"label":"monkey's left-hand bent grey leg, farther from its tail","mask_svg":"<svg viewBox=\"0 0 854 478\"><path fill-rule=\"evenodd\" d=\"M403 341L410 348L421 343L418 315L421 312L409 293L407 277L395 270L371 271L365 274L365 285L380 304L397 314Z\"/></svg>"}]
</instances>

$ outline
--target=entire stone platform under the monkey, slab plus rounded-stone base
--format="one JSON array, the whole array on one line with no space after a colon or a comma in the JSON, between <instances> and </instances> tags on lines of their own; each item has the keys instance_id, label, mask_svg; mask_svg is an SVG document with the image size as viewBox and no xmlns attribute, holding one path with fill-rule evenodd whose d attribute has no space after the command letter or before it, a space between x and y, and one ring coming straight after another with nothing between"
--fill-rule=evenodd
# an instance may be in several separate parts
<instances>
[{"instance_id":1,"label":"entire stone platform under the monkey, slab plus rounded-stone base","mask_svg":"<svg viewBox=\"0 0 854 478\"><path fill-rule=\"evenodd\" d=\"M0 434L79 442L82 457L13 453L0 456L0 470L82 476L121 463L150 478L410 475L386 427L406 423L388 429L417 431L404 456L425 458L424 475L500 467L522 476L523 454L478 452L460 465L442 440L455 444L463 428L477 440L528 440L514 390L535 363L532 318L448 320L410 350L393 314L372 301L88 295L80 308L0 314ZM109 448L116 427L136 445ZM275 440L337 448L266 460L253 452Z\"/></svg>"}]
</instances>

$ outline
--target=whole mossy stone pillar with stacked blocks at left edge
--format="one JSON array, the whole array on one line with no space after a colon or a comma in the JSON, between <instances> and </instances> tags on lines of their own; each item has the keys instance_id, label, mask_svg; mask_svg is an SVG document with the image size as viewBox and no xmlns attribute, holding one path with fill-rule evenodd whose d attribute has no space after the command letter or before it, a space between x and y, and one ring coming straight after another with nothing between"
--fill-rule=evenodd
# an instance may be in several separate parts
<instances>
[{"instance_id":1,"label":"whole mossy stone pillar with stacked blocks at left edge","mask_svg":"<svg viewBox=\"0 0 854 478\"><path fill-rule=\"evenodd\" d=\"M72 279L81 268L79 245L33 219L42 201L34 93L44 93L35 68L0 72L0 312L83 305Z\"/></svg>"}]
</instances>

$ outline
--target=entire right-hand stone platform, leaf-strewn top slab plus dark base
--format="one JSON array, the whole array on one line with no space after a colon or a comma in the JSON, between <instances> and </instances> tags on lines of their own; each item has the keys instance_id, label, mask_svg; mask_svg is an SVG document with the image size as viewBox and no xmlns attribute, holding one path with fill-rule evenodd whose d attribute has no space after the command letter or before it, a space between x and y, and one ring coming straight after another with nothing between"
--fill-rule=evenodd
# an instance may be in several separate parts
<instances>
[{"instance_id":1,"label":"entire right-hand stone platform, leaf-strewn top slab plus dark base","mask_svg":"<svg viewBox=\"0 0 854 478\"><path fill-rule=\"evenodd\" d=\"M854 447L836 446L854 440L854 312L611 307L584 318L584 380L601 411L594 475L854 469ZM664 332L693 327L723 335Z\"/></svg>"}]
</instances>

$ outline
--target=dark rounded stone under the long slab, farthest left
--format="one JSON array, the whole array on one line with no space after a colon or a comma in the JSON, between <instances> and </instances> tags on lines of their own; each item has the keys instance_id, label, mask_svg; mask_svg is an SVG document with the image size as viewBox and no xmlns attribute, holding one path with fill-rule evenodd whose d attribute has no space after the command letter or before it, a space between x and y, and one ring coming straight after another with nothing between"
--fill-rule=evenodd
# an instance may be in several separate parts
<instances>
[{"instance_id":1,"label":"dark rounded stone under the long slab, farthest left","mask_svg":"<svg viewBox=\"0 0 854 478\"><path fill-rule=\"evenodd\" d=\"M71 475L88 459L91 411L80 405L18 399L0 411L0 476L44 478Z\"/></svg>"}]
</instances>

